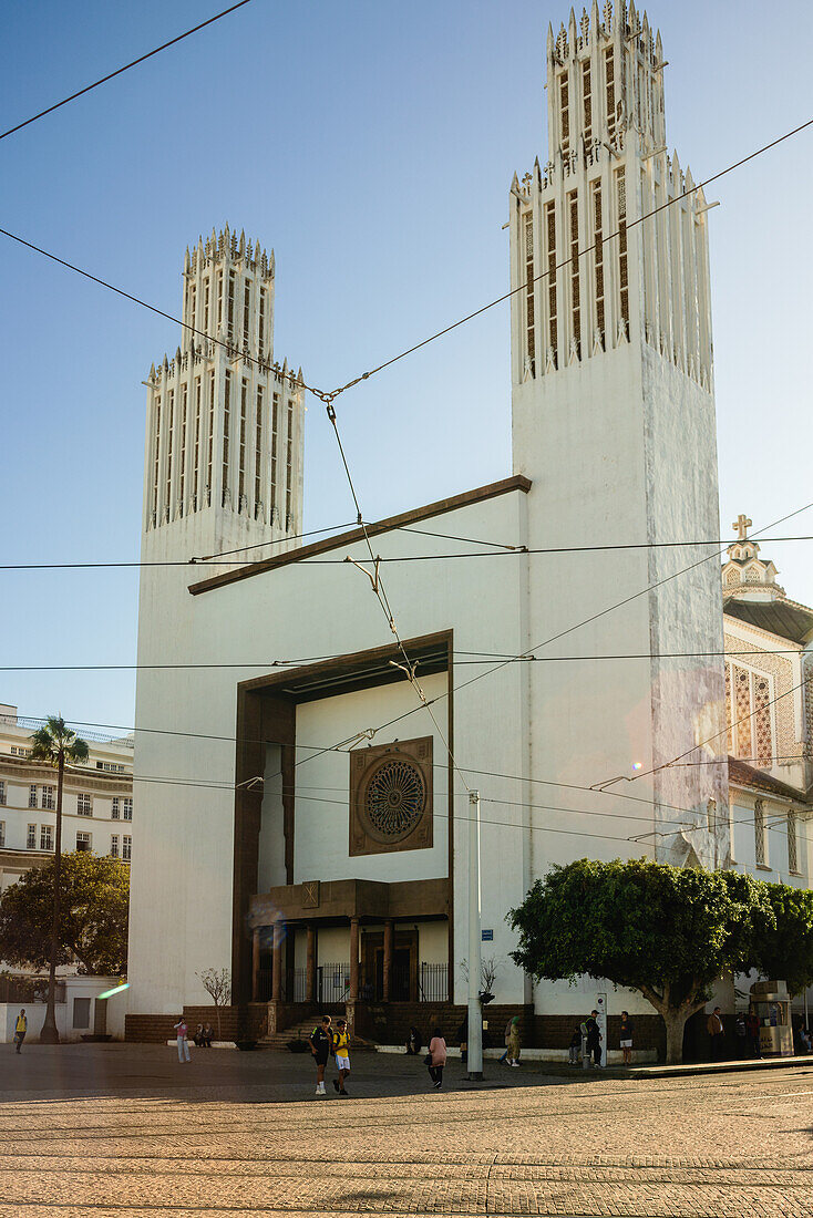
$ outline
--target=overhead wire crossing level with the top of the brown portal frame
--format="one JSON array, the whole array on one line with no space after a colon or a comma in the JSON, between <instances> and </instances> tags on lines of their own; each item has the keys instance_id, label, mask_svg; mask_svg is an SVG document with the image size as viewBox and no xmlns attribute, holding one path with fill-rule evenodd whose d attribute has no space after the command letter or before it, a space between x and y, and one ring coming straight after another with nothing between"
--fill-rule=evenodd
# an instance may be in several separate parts
<instances>
[{"instance_id":1,"label":"overhead wire crossing level with the top of the brown portal frame","mask_svg":"<svg viewBox=\"0 0 813 1218\"><path fill-rule=\"evenodd\" d=\"M507 655L489 652L453 652L455 664L481 665L494 659L506 664L584 664L605 660L692 660L692 659L744 659L759 655L798 655L800 648L778 648L770 653L750 649L745 652L624 652L605 655ZM480 659L461 659L478 655ZM0 672L194 672L225 669L295 669L341 659L341 655L307 655L293 660L238 660L230 663L205 661L200 664L0 664ZM458 688L462 688L460 686ZM33 716L32 716L33 717ZM133 731L134 728L127 728Z\"/></svg>"}]
</instances>

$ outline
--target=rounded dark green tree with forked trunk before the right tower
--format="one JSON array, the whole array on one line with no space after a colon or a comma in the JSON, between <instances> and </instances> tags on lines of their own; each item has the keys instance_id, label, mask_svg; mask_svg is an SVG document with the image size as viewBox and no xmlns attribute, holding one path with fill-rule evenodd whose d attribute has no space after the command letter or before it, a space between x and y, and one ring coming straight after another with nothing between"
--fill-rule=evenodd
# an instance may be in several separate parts
<instances>
[{"instance_id":1,"label":"rounded dark green tree with forked trunk before the right tower","mask_svg":"<svg viewBox=\"0 0 813 1218\"><path fill-rule=\"evenodd\" d=\"M509 912L512 956L534 977L639 990L666 1024L667 1061L679 1062L686 1019L722 973L750 967L775 921L765 888L735 872L579 859L552 867Z\"/></svg>"}]
</instances>

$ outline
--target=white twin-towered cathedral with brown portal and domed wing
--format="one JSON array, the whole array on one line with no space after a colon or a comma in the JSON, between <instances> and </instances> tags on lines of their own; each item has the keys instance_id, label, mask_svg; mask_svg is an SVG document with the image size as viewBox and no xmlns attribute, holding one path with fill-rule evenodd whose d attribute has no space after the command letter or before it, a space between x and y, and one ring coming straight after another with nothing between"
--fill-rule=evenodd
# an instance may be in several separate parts
<instances>
[{"instance_id":1,"label":"white twin-towered cathedral with brown portal and domed wing","mask_svg":"<svg viewBox=\"0 0 813 1218\"><path fill-rule=\"evenodd\" d=\"M513 471L368 529L383 559L446 553L447 535L522 548L383 568L431 714L345 561L368 558L361 530L301 543L304 386L275 359L273 253L227 228L186 256L189 329L147 393L128 1035L206 1001L207 968L230 971L258 1035L319 1007L377 1040L429 1012L451 1032L456 767L481 798L495 1023L518 1012L539 1044L567 1044L596 988L509 960L506 914L552 864L808 882L813 613L745 518L723 580L703 543L720 536L709 203L667 151L663 68L634 6L549 32L549 158L509 191ZM656 1045L647 1004L622 1006Z\"/></svg>"}]
</instances>

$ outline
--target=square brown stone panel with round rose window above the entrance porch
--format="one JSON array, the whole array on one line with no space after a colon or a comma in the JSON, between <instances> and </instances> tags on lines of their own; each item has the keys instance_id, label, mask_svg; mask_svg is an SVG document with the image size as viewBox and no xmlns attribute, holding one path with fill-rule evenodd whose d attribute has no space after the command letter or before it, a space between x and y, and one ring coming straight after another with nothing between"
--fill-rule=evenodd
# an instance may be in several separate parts
<instances>
[{"instance_id":1,"label":"square brown stone panel with round rose window above the entrance porch","mask_svg":"<svg viewBox=\"0 0 813 1218\"><path fill-rule=\"evenodd\" d=\"M433 844L431 737L350 754L350 855Z\"/></svg>"}]
</instances>

